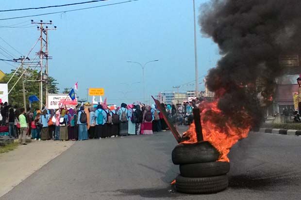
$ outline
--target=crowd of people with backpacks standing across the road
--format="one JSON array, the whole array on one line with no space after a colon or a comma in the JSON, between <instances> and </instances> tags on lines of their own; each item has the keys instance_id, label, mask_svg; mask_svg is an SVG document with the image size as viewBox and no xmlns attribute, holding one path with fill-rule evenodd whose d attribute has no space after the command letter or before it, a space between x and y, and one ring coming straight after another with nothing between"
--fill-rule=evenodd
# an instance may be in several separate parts
<instances>
[{"instance_id":1,"label":"crowd of people with backpacks standing across the road","mask_svg":"<svg viewBox=\"0 0 301 200\"><path fill-rule=\"evenodd\" d=\"M174 124L189 125L196 101L184 104L161 104ZM26 136L34 140L85 140L146 135L168 129L163 113L155 105L122 103L120 107L99 104L76 108L28 109L1 104L2 125L8 125L9 137L26 144Z\"/></svg>"}]
</instances>

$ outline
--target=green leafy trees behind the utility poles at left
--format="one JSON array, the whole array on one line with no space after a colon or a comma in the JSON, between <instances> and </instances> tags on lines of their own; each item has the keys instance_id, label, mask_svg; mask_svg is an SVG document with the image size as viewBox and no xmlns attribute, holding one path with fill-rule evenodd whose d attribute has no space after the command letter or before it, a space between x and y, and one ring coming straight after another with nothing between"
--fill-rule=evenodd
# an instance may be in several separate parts
<instances>
[{"instance_id":1,"label":"green leafy trees behind the utility poles at left","mask_svg":"<svg viewBox=\"0 0 301 200\"><path fill-rule=\"evenodd\" d=\"M7 73L5 77L0 81L0 83L7 83L8 80L13 76L16 70L12 70L11 73ZM15 85L17 79L21 76L21 70L18 70L16 75L13 77L11 82L8 84L8 91ZM39 85L38 81L27 81L27 80L39 80L39 73L37 70L28 69L26 72L26 80L25 80L25 95L26 95L26 107L29 107L28 97L31 95L36 95L39 97ZM58 93L57 88L57 80L53 77L48 77L48 91L49 93ZM46 83L43 82L43 103L45 104L46 97ZM17 106L18 108L23 108L23 92L22 92L22 79L17 82L17 85L12 90L12 92L8 95L9 104ZM33 108L38 108L39 102L33 103Z\"/></svg>"}]
</instances>

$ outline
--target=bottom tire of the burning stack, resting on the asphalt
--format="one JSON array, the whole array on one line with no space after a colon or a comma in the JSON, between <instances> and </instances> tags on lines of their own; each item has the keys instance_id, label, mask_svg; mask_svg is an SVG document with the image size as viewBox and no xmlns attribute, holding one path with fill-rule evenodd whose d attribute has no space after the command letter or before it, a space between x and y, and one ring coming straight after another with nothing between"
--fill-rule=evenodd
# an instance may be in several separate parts
<instances>
[{"instance_id":1,"label":"bottom tire of the burning stack, resting on the asphalt","mask_svg":"<svg viewBox=\"0 0 301 200\"><path fill-rule=\"evenodd\" d=\"M202 178L187 178L178 175L176 178L176 190L187 194L217 193L228 187L228 176L211 176Z\"/></svg>"}]
</instances>

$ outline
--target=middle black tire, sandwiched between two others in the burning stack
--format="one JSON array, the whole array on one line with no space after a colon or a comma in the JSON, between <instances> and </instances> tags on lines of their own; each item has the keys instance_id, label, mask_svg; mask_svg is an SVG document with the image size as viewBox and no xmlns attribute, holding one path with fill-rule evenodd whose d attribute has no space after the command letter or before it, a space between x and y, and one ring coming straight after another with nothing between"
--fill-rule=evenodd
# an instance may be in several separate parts
<instances>
[{"instance_id":1,"label":"middle black tire, sandwiched between two others in the burning stack","mask_svg":"<svg viewBox=\"0 0 301 200\"><path fill-rule=\"evenodd\" d=\"M184 177L208 177L218 176L228 173L230 163L228 162L208 162L180 165L181 176Z\"/></svg>"}]
</instances>

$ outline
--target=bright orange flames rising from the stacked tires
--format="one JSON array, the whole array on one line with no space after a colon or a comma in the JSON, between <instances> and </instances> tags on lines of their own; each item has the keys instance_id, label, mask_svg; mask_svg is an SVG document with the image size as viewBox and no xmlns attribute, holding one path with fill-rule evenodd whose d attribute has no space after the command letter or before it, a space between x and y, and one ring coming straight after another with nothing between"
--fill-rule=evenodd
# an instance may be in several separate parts
<instances>
[{"instance_id":1,"label":"bright orange flames rising from the stacked tires","mask_svg":"<svg viewBox=\"0 0 301 200\"><path fill-rule=\"evenodd\" d=\"M251 129L250 120L251 117L244 112L239 113L243 117L239 127L234 123L234 119L222 122L219 124L219 120L227 119L223 116L220 109L217 108L218 99L214 102L203 102L200 105L201 110L201 125L202 134L205 141L209 141L220 153L218 161L229 162L228 154L231 147L242 138L247 138ZM188 138L182 143L196 143L197 134L195 130L195 124L192 123L189 129L184 133L184 138Z\"/></svg>"}]
</instances>

